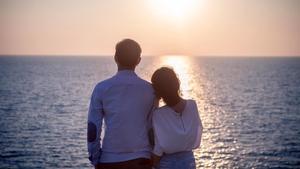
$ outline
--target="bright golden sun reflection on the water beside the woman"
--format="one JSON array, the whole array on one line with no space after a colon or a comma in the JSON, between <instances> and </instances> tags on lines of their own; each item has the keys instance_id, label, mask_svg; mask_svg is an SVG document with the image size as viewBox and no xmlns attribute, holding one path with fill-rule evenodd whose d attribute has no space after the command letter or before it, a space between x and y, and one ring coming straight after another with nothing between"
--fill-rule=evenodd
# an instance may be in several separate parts
<instances>
[{"instance_id":1,"label":"bright golden sun reflection on the water beside the woman","mask_svg":"<svg viewBox=\"0 0 300 169\"><path fill-rule=\"evenodd\" d=\"M214 98L211 94L207 95L207 92L204 90L204 86L210 85L208 84L209 81L207 81L205 73L201 70L201 64L195 64L194 62L195 60L191 56L167 55L160 57L159 66L172 67L180 80L180 90L183 98L193 99L197 102L204 127L201 146L194 150L197 168L203 168L204 166L214 168L216 167L214 166L216 162L214 159L218 158L220 154L218 152L211 154L210 152L212 149L223 145L222 143L216 144L214 142L216 137L220 137L220 133L211 133L209 131L217 128L216 114L220 115L222 110L209 103L209 98ZM213 112L213 114L210 112Z\"/></svg>"}]
</instances>

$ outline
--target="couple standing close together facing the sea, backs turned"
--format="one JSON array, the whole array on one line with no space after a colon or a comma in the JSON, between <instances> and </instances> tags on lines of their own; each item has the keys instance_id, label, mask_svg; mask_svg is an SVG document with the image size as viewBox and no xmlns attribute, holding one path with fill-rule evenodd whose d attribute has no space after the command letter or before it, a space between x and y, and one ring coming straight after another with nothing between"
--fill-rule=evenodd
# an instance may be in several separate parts
<instances>
[{"instance_id":1,"label":"couple standing close together facing the sea, backs turned","mask_svg":"<svg viewBox=\"0 0 300 169\"><path fill-rule=\"evenodd\" d=\"M180 97L180 82L171 68L156 70L152 84L139 78L134 70L140 56L137 42L120 41L114 56L117 74L93 90L89 160L98 169L195 169L192 150L200 146L202 135L197 105ZM163 107L158 107L160 98Z\"/></svg>"}]
</instances>

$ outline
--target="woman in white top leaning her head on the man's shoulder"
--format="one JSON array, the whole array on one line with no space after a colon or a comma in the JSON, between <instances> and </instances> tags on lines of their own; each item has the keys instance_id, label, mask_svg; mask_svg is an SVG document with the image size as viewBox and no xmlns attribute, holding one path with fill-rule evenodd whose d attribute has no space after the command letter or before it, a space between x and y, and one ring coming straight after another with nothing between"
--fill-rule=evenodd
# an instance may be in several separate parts
<instances>
[{"instance_id":1,"label":"woman in white top leaning her head on the man's shoulder","mask_svg":"<svg viewBox=\"0 0 300 169\"><path fill-rule=\"evenodd\" d=\"M202 123L194 100L179 95L180 82L171 68L162 67L151 78L165 106L153 112L153 165L159 169L195 169L192 152L201 142Z\"/></svg>"}]
</instances>

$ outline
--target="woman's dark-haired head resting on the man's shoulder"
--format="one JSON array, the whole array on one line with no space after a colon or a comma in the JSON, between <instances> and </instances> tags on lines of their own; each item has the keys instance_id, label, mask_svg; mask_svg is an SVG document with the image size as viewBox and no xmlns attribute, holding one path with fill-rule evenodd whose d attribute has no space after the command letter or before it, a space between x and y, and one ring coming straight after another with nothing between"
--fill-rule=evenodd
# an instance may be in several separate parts
<instances>
[{"instance_id":1,"label":"woman's dark-haired head resting on the man's shoulder","mask_svg":"<svg viewBox=\"0 0 300 169\"><path fill-rule=\"evenodd\" d=\"M174 106L180 101L179 79L172 68L161 67L151 78L156 95L162 98L168 106Z\"/></svg>"}]
</instances>

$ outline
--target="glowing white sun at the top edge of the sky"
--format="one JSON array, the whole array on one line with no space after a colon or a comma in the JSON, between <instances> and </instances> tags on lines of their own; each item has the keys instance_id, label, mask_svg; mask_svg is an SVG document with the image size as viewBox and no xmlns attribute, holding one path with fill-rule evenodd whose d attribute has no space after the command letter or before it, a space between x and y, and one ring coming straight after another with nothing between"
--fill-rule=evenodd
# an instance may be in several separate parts
<instances>
[{"instance_id":1,"label":"glowing white sun at the top edge of the sky","mask_svg":"<svg viewBox=\"0 0 300 169\"><path fill-rule=\"evenodd\" d=\"M190 15L199 0L149 0L155 14L178 20Z\"/></svg>"}]
</instances>

